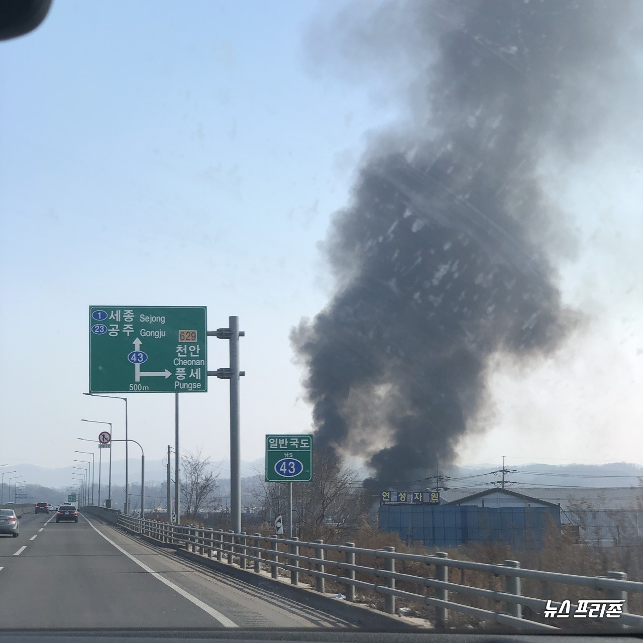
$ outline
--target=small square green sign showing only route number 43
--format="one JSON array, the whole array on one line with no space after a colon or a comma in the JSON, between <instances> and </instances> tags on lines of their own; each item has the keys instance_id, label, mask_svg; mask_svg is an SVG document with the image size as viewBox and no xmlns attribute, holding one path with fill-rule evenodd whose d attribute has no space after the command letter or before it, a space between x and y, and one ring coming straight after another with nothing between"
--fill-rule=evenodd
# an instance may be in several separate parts
<instances>
[{"instance_id":1,"label":"small square green sign showing only route number 43","mask_svg":"<svg viewBox=\"0 0 643 643\"><path fill-rule=\"evenodd\" d=\"M312 435L266 435L266 482L312 480Z\"/></svg>"}]
</instances>

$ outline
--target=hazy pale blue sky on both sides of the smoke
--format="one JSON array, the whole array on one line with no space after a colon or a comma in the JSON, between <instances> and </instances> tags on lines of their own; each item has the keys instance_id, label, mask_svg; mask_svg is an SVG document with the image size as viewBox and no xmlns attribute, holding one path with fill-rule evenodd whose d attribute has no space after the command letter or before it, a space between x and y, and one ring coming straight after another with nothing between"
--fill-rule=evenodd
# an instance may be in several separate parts
<instances>
[{"instance_id":1,"label":"hazy pale blue sky on both sides of the smoke","mask_svg":"<svg viewBox=\"0 0 643 643\"><path fill-rule=\"evenodd\" d=\"M97 433L82 417L122 437L122 404L82 396L99 303L205 305L211 329L239 315L242 458L262 457L265 433L311 429L288 334L327 302L318 243L371 132L403 110L314 62L309 27L343 4L57 0L39 29L0 43L0 462L66 466L76 438ZM547 165L579 213L565 294L595 321L556 364L498 370L493 428L462 445L464 463L641 460L643 181L630 142L628 157L606 139L610 172L590 156L559 185ZM209 368L227 350L210 340ZM130 399L131 437L160 460L174 396ZM228 455L227 382L183 395L181 418L185 448Z\"/></svg>"}]
</instances>

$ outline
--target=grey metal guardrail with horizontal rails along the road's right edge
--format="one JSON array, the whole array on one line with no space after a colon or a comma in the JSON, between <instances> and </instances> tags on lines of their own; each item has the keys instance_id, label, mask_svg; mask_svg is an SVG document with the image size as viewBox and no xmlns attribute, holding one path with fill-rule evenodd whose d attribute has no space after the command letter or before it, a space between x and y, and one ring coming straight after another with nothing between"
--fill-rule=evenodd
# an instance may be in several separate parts
<instances>
[{"instance_id":1,"label":"grey metal guardrail with horizontal rails along the road's right edge","mask_svg":"<svg viewBox=\"0 0 643 643\"><path fill-rule=\"evenodd\" d=\"M556 572L543 572L541 570L523 569L518 561L505 560L503 565L490 565L473 561L458 561L449 559L448 554L438 552L433 556L420 554L405 554L396 552L394 547L382 549L365 549L355 547L354 543L345 545L327 545L322 540L312 543L300 542L297 538L284 539L261 534L235 534L232 531L205 529L196 525L171 525L157 520L142 520L134 516L118 516L118 524L134 534L141 534L156 539L161 543L168 543L185 547L186 550L202 554L209 558L216 556L217 561L226 558L228 564L233 559L239 560L241 569L248 569L248 564L253 563L254 571L258 574L261 566L265 565L271 572L271 577L278 577L278 570L290 572L291 584L299 583L299 574L308 574L315 578L315 590L325 592L325 580L336 581L345 586L347 601L355 602L355 588L371 590L385 595L384 611L395 613L395 597L408 601L419 602L435 607L436 628L446 627L448 611L475 615L494 623L508 625L521 631L560 631L556 626L548 625L533 620L523 619L522 606L529 606L534 610L544 612L545 608L559 607L561 603L545 601L521 594L520 579L538 579L549 583L576 585L602 590L611 600L624 601L622 613L614 619L615 627L628 629L629 627L643 629L643 616L628 613L628 593L643 593L643 583L628 581L624 572L608 572L603 576L579 576L574 574L558 574ZM265 547L261 544L266 543ZM279 545L286 545L287 551L278 549ZM308 548L314 550L314 556L302 556L300 550ZM345 561L330 560L325 552L338 552L345 554ZM383 568L368 567L355 564L356 554L370 554L383 559ZM395 571L395 561L415 561L435 567L433 577L402 574ZM307 563L314 568L302 568L300 563ZM327 568L336 568L336 574L327 571ZM459 570L475 570L494 576L505 577L505 591L487 590L480 587L471 587L461 583L451 583L448 578L449 568ZM355 572L362 572L381 579L381 583L367 583L359 581ZM420 593L406 592L395 588L395 581L406 581L421 587L433 588L433 597ZM468 594L484 599L492 599L505 604L505 611L485 610L469 605L460 604L449 600L449 592ZM548 605L549 602L549 605ZM570 606L570 614L579 609L577 605Z\"/></svg>"}]
</instances>

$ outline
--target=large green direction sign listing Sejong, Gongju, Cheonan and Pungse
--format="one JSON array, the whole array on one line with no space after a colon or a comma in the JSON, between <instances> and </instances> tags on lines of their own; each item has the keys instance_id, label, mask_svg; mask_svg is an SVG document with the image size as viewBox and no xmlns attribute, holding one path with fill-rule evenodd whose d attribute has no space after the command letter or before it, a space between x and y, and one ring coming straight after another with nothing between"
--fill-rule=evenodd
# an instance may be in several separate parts
<instances>
[{"instance_id":1,"label":"large green direction sign listing Sejong, Gongju, Cheonan and Pungse","mask_svg":"<svg viewBox=\"0 0 643 643\"><path fill-rule=\"evenodd\" d=\"M89 307L89 392L206 392L206 333L205 307Z\"/></svg>"}]
</instances>

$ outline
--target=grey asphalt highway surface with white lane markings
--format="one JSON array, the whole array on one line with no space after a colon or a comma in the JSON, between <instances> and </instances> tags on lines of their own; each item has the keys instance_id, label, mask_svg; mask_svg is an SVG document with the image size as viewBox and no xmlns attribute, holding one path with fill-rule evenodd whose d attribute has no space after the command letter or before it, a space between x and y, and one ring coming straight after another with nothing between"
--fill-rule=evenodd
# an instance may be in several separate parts
<instances>
[{"instance_id":1,"label":"grey asphalt highway surface with white lane markings","mask_svg":"<svg viewBox=\"0 0 643 643\"><path fill-rule=\"evenodd\" d=\"M93 516L0 536L0 628L338 628L348 622L177 559Z\"/></svg>"}]
</instances>

